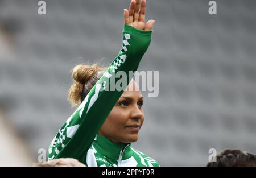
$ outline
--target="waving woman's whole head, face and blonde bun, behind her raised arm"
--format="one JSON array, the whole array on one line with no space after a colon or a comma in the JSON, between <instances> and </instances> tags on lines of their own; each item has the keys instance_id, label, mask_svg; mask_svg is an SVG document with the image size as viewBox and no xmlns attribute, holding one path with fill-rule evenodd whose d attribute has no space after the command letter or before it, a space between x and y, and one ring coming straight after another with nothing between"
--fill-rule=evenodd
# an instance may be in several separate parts
<instances>
[{"instance_id":1,"label":"waving woman's whole head, face and blonde bun, behind her raised arm","mask_svg":"<svg viewBox=\"0 0 256 178\"><path fill-rule=\"evenodd\" d=\"M97 64L92 66L80 64L73 69L73 85L68 95L68 100L72 106L81 104L81 101L105 73L105 70L106 68L100 68ZM142 93L137 83L132 79L98 134L105 136L114 143L136 142L144 122L142 105Z\"/></svg>"}]
</instances>

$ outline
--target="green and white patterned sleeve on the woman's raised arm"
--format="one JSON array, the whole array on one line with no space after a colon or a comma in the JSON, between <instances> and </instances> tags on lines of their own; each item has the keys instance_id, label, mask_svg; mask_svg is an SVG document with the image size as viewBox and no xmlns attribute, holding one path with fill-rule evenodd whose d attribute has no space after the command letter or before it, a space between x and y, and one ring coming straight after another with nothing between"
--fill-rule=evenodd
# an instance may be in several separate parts
<instances>
[{"instance_id":1,"label":"green and white patterned sleeve on the woman's raised arm","mask_svg":"<svg viewBox=\"0 0 256 178\"><path fill-rule=\"evenodd\" d=\"M151 33L152 31L142 31L125 25L121 51L52 140L48 149L49 160L75 158L84 162L85 154L98 130L123 93L123 90L109 88L110 84L118 81L114 74L123 71L128 76L129 71L137 71L142 56L150 44ZM127 84L130 80L131 77L127 78Z\"/></svg>"}]
</instances>

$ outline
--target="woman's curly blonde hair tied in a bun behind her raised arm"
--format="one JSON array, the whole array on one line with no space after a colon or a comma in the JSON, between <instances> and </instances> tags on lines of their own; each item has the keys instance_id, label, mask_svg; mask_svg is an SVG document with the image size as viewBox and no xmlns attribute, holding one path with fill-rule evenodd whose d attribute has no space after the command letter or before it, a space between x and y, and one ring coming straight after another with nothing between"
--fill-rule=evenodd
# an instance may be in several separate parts
<instances>
[{"instance_id":1,"label":"woman's curly blonde hair tied in a bun behind her raised arm","mask_svg":"<svg viewBox=\"0 0 256 178\"><path fill-rule=\"evenodd\" d=\"M73 68L73 84L68 92L68 101L72 107L81 104L85 96L105 73L106 69L106 67L99 67L98 64L79 64Z\"/></svg>"}]
</instances>

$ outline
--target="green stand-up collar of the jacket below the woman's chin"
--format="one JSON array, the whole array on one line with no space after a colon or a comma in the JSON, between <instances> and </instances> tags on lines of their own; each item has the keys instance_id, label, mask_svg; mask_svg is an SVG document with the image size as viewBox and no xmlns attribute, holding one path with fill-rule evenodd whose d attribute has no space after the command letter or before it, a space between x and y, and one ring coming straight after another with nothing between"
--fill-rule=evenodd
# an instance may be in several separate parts
<instances>
[{"instance_id":1,"label":"green stand-up collar of the jacket below the woman's chin","mask_svg":"<svg viewBox=\"0 0 256 178\"><path fill-rule=\"evenodd\" d=\"M133 155L131 143L114 143L100 134L96 135L93 146L100 154L112 160L118 160L121 151L124 151L122 160L128 159Z\"/></svg>"}]
</instances>

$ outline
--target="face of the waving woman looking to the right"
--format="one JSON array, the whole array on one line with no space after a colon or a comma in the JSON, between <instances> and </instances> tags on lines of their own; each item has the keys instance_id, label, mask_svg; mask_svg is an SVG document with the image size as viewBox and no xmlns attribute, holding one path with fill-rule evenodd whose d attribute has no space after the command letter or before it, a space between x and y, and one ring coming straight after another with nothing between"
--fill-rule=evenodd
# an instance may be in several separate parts
<instances>
[{"instance_id":1,"label":"face of the waving woman looking to the right","mask_svg":"<svg viewBox=\"0 0 256 178\"><path fill-rule=\"evenodd\" d=\"M138 140L144 122L143 96L139 86L131 80L98 134L114 143L131 143Z\"/></svg>"}]
</instances>

